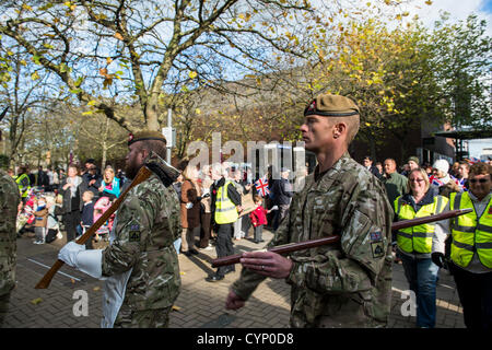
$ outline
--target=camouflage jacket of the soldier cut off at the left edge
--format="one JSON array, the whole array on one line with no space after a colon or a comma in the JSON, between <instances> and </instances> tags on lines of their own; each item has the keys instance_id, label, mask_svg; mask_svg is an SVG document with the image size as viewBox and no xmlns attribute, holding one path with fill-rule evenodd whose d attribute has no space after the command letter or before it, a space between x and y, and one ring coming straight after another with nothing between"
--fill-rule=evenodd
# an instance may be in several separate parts
<instances>
[{"instance_id":1,"label":"camouflage jacket of the soldier cut off at the left edge","mask_svg":"<svg viewBox=\"0 0 492 350\"><path fill-rule=\"evenodd\" d=\"M15 287L19 187L12 177L0 170L0 295Z\"/></svg>"}]
</instances>

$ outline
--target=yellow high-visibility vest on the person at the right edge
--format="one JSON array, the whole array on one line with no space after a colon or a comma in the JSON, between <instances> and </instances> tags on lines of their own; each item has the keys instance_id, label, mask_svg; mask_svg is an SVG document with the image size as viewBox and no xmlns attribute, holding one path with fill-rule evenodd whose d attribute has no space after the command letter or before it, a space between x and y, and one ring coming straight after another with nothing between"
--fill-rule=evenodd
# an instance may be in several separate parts
<instances>
[{"instance_id":1,"label":"yellow high-visibility vest on the person at the right edge","mask_svg":"<svg viewBox=\"0 0 492 350\"><path fill-rule=\"evenodd\" d=\"M452 220L450 258L458 266L467 267L475 252L480 262L492 268L492 198L480 218L477 217L468 192L450 194L452 210L470 208L473 211Z\"/></svg>"}]
</instances>

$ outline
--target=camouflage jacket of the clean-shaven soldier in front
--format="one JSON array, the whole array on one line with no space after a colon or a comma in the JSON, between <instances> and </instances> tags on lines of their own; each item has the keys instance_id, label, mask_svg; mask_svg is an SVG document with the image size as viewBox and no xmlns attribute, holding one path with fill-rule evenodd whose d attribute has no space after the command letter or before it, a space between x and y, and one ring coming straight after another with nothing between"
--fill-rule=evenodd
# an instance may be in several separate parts
<instances>
[{"instance_id":1,"label":"camouflage jacket of the clean-shaven soldier in front","mask_svg":"<svg viewBox=\"0 0 492 350\"><path fill-rule=\"evenodd\" d=\"M393 210L380 182L344 153L306 177L269 246L340 235L336 245L294 252L286 282L292 327L382 327L391 296ZM243 269L232 289L248 299L263 280Z\"/></svg>"}]
</instances>

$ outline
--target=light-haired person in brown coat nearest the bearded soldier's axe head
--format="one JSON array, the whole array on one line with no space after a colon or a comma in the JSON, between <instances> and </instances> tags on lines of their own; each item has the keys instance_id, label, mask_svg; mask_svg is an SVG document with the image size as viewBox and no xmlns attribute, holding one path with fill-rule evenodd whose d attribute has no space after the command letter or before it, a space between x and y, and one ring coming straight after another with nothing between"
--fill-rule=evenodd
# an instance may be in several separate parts
<instances>
[{"instance_id":1,"label":"light-haired person in brown coat nearest the bearded soldier's axe head","mask_svg":"<svg viewBox=\"0 0 492 350\"><path fill-rule=\"evenodd\" d=\"M195 237L200 235L200 200L201 189L198 184L198 170L187 165L181 173L181 252L186 256L198 254L195 249Z\"/></svg>"}]
</instances>

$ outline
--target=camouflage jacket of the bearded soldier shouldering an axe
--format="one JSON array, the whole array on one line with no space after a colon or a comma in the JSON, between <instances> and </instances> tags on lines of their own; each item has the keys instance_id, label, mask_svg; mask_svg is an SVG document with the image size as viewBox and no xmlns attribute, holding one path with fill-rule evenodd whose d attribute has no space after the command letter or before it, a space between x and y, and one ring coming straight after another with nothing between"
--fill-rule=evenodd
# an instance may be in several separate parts
<instances>
[{"instance_id":1,"label":"camouflage jacket of the bearded soldier shouldering an axe","mask_svg":"<svg viewBox=\"0 0 492 350\"><path fill-rule=\"evenodd\" d=\"M156 155L147 164L166 165ZM124 304L132 310L171 307L179 294L174 241L180 235L179 200L173 186L151 177L133 187L116 214L116 238L103 250L103 277L131 270Z\"/></svg>"}]
</instances>

